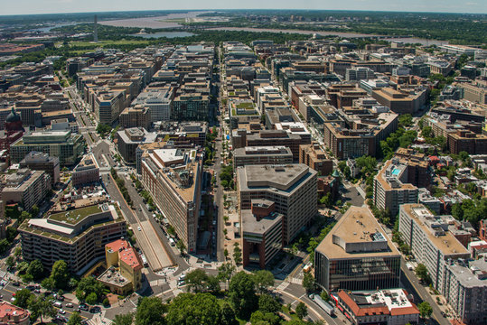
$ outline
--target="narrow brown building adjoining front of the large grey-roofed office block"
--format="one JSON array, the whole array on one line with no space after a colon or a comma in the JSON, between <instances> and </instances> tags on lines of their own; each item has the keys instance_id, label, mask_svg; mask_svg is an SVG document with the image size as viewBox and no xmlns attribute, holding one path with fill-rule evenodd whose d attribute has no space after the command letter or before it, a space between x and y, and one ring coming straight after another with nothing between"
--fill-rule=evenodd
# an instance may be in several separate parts
<instances>
[{"instance_id":1,"label":"narrow brown building adjoining front of the large grey-roofed office block","mask_svg":"<svg viewBox=\"0 0 487 325\"><path fill-rule=\"evenodd\" d=\"M276 213L271 200L251 200L251 208L241 211L243 265L266 269L283 247L283 215Z\"/></svg>"}]
</instances>

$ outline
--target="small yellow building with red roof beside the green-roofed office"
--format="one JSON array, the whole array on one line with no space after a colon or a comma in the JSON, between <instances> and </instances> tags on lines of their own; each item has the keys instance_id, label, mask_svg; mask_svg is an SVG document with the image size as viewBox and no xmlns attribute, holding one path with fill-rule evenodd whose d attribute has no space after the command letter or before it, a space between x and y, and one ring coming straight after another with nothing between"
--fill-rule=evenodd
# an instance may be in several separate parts
<instances>
[{"instance_id":1,"label":"small yellow building with red roof beside the green-roofed office","mask_svg":"<svg viewBox=\"0 0 487 325\"><path fill-rule=\"evenodd\" d=\"M126 295L142 288L142 260L134 247L125 239L105 245L107 271L98 276L110 292Z\"/></svg>"}]
</instances>

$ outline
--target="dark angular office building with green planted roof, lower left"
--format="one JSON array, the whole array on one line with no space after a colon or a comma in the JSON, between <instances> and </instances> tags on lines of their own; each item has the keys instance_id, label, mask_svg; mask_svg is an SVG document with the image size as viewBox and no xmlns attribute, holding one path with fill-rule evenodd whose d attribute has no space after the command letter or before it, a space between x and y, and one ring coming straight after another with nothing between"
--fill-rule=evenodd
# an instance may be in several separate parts
<instances>
[{"instance_id":1,"label":"dark angular office building with green planted roof, lower left","mask_svg":"<svg viewBox=\"0 0 487 325\"><path fill-rule=\"evenodd\" d=\"M38 259L45 268L62 259L72 274L84 274L105 257L105 245L126 236L120 210L106 203L23 221L23 260Z\"/></svg>"}]
</instances>

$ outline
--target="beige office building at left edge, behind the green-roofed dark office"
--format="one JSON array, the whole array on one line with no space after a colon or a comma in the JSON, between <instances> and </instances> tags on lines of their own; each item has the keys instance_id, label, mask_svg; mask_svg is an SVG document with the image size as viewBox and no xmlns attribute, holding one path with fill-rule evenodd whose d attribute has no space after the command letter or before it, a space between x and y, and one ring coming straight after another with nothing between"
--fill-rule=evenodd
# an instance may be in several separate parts
<instances>
[{"instance_id":1,"label":"beige office building at left edge, behind the green-roofed dark office","mask_svg":"<svg viewBox=\"0 0 487 325\"><path fill-rule=\"evenodd\" d=\"M5 204L17 203L26 211L40 203L51 190L51 177L43 171L20 169L14 174L7 175L5 187L2 190L2 200Z\"/></svg>"}]
</instances>

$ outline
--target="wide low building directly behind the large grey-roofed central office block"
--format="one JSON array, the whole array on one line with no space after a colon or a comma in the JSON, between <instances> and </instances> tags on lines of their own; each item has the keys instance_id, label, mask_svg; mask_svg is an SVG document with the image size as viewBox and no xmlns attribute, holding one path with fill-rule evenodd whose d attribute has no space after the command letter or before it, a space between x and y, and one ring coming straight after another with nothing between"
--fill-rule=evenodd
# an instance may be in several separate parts
<instances>
[{"instance_id":1,"label":"wide low building directly behind the large grey-roofed central office block","mask_svg":"<svg viewBox=\"0 0 487 325\"><path fill-rule=\"evenodd\" d=\"M293 163L293 153L286 146L246 146L233 151L234 168L250 164Z\"/></svg>"}]
</instances>

